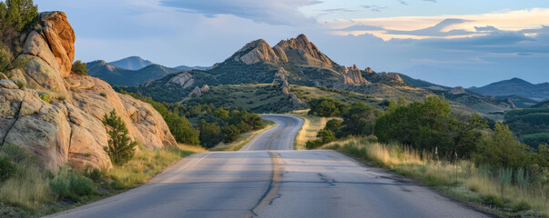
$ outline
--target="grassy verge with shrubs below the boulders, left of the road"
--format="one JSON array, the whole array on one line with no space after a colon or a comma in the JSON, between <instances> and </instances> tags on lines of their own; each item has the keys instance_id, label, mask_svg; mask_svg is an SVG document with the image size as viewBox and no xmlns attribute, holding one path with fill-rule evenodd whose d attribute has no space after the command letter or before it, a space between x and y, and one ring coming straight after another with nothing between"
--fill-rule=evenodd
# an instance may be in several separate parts
<instances>
[{"instance_id":1,"label":"grassy verge with shrubs below the boulders, left of the road","mask_svg":"<svg viewBox=\"0 0 549 218\"><path fill-rule=\"evenodd\" d=\"M39 217L95 202L146 183L168 165L198 152L206 150L183 144L140 149L129 163L109 171L73 170L66 165L50 172L37 166L36 160L20 147L5 145L0 158L9 160L15 168L0 183L0 217ZM2 172L8 168L3 166Z\"/></svg>"}]
</instances>

